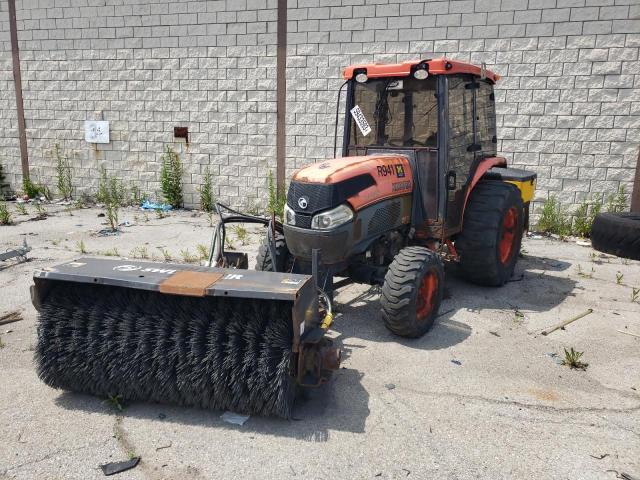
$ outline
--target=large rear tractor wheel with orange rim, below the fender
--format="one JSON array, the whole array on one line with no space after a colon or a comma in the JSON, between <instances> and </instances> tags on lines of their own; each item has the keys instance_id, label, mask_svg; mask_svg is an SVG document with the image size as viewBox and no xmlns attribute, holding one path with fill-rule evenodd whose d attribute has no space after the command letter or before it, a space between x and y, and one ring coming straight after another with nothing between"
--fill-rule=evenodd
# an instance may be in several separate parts
<instances>
[{"instance_id":1,"label":"large rear tractor wheel with orange rim, below the fender","mask_svg":"<svg viewBox=\"0 0 640 480\"><path fill-rule=\"evenodd\" d=\"M478 183L455 244L463 276L480 285L504 285L513 275L523 230L524 208L518 188L500 181Z\"/></svg>"}]
</instances>

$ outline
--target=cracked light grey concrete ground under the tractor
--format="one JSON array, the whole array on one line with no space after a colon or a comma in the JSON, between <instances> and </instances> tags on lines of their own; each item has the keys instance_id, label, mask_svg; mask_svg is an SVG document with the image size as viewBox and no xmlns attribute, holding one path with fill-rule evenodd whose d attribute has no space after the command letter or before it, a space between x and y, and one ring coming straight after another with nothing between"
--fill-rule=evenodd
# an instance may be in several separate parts
<instances>
[{"instance_id":1,"label":"cracked light grey concrete ground under the tractor","mask_svg":"<svg viewBox=\"0 0 640 480\"><path fill-rule=\"evenodd\" d=\"M160 219L129 209L121 220L131 226L100 237L98 209L48 209L45 220L30 221L30 208L0 227L2 250L23 238L33 246L29 262L0 264L0 315L24 316L0 326L2 479L101 478L100 464L129 455L140 465L115 478L640 478L640 338L619 332L640 334L639 262L528 238L503 288L449 272L450 298L418 340L385 329L374 291L347 287L333 332L344 362L332 382L297 405L295 420L234 426L222 412L166 405L118 413L37 378L35 269L81 247L156 258L166 249L190 260L211 233L202 214ZM255 252L258 235L248 240L234 243ZM566 330L539 334L588 308ZM586 371L559 364L570 347L584 352Z\"/></svg>"}]
</instances>

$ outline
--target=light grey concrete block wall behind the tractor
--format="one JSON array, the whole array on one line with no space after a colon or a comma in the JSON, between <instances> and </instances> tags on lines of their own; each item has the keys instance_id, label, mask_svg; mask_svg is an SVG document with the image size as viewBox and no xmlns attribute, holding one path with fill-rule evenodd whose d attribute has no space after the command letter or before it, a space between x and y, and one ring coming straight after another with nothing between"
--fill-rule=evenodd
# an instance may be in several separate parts
<instances>
[{"instance_id":1,"label":"light grey concrete block wall behind the tractor","mask_svg":"<svg viewBox=\"0 0 640 480\"><path fill-rule=\"evenodd\" d=\"M190 144L175 146L188 205L198 203L206 165L222 201L264 202L275 169L276 0L17 4L36 177L55 183L46 150L59 142L75 152L79 189L95 188L104 164L153 193L163 144L174 144L174 126L187 126ZM539 199L551 193L576 204L619 186L631 191L640 144L637 0L289 0L288 18L288 175L333 155L342 67L447 55L503 76L499 151L538 172ZM3 87L11 79L6 36ZM0 118L13 114L12 95L3 88ZM111 121L113 141L94 148L83 124L100 118ZM2 128L19 183L17 133ZM339 148L341 126L338 137Z\"/></svg>"}]
</instances>

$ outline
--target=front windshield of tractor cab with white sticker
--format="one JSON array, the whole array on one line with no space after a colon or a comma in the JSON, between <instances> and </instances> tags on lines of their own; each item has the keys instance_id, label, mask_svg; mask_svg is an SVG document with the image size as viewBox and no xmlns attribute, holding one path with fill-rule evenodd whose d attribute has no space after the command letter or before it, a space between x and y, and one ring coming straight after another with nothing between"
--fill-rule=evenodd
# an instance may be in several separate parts
<instances>
[{"instance_id":1,"label":"front windshield of tractor cab with white sticker","mask_svg":"<svg viewBox=\"0 0 640 480\"><path fill-rule=\"evenodd\" d=\"M435 93L435 77L355 83L349 147L437 147Z\"/></svg>"}]
</instances>

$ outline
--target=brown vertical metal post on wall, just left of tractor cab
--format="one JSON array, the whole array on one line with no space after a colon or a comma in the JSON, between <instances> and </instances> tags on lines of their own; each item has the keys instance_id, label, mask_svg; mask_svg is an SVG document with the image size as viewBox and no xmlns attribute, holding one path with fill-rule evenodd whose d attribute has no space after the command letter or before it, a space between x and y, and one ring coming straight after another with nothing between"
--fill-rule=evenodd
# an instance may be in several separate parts
<instances>
[{"instance_id":1,"label":"brown vertical metal post on wall, just left of tractor cab","mask_svg":"<svg viewBox=\"0 0 640 480\"><path fill-rule=\"evenodd\" d=\"M276 184L284 193L287 154L287 0L278 0L278 50L276 59Z\"/></svg>"}]
</instances>

